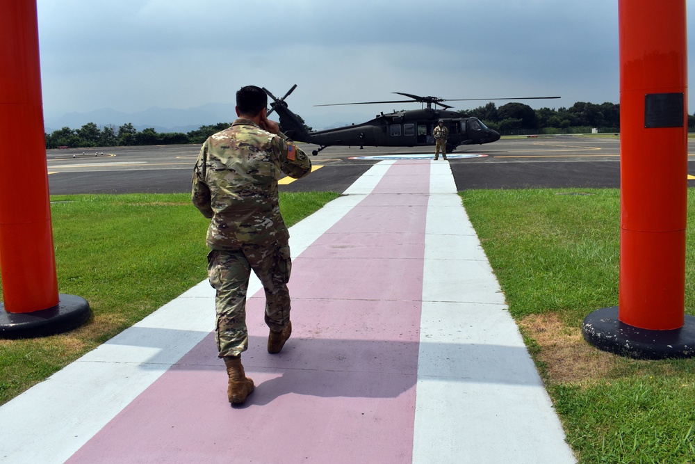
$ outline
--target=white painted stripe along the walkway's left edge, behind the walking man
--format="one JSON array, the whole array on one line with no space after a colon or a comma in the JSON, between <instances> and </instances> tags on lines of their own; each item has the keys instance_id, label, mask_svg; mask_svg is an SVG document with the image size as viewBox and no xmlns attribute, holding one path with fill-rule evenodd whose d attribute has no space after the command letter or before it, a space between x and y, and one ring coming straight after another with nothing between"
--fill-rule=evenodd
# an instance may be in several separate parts
<instances>
[{"instance_id":1,"label":"white painted stripe along the walkway's left edge, behind the walking man","mask_svg":"<svg viewBox=\"0 0 695 464\"><path fill-rule=\"evenodd\" d=\"M345 196L291 227L297 257L368 195L391 162L377 163ZM201 259L205 259L204 256ZM255 275L248 294L262 286ZM214 328L207 280L0 406L0 461L63 463Z\"/></svg>"}]
</instances>

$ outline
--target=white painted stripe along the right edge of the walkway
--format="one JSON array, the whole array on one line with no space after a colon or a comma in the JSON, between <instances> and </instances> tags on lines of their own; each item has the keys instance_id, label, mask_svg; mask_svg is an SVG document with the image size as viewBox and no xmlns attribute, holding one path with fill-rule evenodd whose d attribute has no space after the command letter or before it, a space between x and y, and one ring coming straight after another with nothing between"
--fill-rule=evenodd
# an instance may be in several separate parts
<instances>
[{"instance_id":1,"label":"white painted stripe along the right edge of the walkway","mask_svg":"<svg viewBox=\"0 0 695 464\"><path fill-rule=\"evenodd\" d=\"M574 463L456 193L433 163L413 463Z\"/></svg>"}]
</instances>

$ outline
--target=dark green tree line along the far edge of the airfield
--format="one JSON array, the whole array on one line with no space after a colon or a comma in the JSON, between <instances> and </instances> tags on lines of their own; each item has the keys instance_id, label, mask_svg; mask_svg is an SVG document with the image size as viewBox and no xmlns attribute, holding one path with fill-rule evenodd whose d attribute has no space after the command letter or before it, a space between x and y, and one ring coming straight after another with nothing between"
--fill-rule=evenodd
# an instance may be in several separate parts
<instances>
[{"instance_id":1,"label":"dark green tree line along the far edge of the airfield","mask_svg":"<svg viewBox=\"0 0 695 464\"><path fill-rule=\"evenodd\" d=\"M499 108L489 102L475 109L459 111L461 115L475 116L487 127L499 131L502 135L530 133L562 134L589 132L618 132L620 130L620 105L615 103L577 102L569 108L532 109L523 103L507 103ZM304 120L300 117L300 121ZM158 133L149 127L138 131L131 123L116 129L114 125L98 127L89 122L79 129L63 127L51 134L46 134L46 147L114 147L124 145L173 145L186 143L203 143L206 138L227 129L231 122L218 122L204 125L194 131ZM304 124L306 126L306 124ZM311 127L307 126L311 131ZM695 116L688 115L688 130L695 131Z\"/></svg>"}]
</instances>

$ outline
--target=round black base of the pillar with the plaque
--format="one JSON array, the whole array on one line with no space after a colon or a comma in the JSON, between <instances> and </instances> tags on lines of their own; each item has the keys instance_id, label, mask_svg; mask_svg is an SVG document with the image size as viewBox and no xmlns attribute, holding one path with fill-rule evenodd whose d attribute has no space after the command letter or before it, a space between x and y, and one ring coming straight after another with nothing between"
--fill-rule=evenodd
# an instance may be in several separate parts
<instances>
[{"instance_id":1,"label":"round black base of the pillar with the plaque","mask_svg":"<svg viewBox=\"0 0 695 464\"><path fill-rule=\"evenodd\" d=\"M695 317L685 314L682 328L649 330L618 319L618 307L604 307L584 318L582 334L603 351L635 359L691 358L695 356Z\"/></svg>"}]
</instances>

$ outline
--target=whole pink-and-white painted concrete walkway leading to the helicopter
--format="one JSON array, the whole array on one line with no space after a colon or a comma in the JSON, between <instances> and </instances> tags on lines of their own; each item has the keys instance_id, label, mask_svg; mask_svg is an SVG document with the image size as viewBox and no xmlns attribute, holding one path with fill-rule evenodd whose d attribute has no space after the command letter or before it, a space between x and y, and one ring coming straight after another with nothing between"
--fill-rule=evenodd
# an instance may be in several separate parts
<instances>
[{"instance_id":1,"label":"whole pink-and-white painted concrete walkway leading to the helicopter","mask_svg":"<svg viewBox=\"0 0 695 464\"><path fill-rule=\"evenodd\" d=\"M2 463L574 463L446 161L382 161L291 228L293 335L254 278L231 407L206 281L0 407Z\"/></svg>"}]
</instances>

